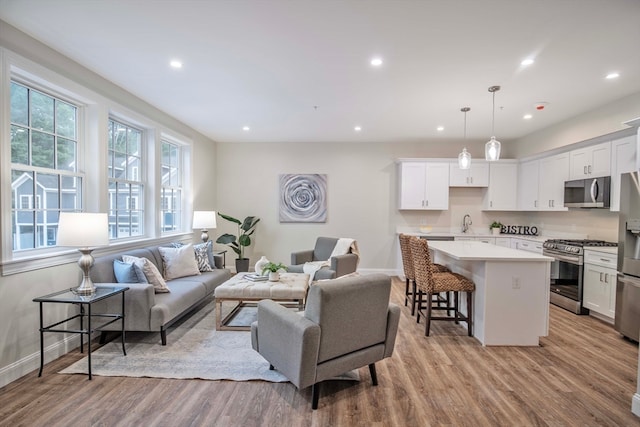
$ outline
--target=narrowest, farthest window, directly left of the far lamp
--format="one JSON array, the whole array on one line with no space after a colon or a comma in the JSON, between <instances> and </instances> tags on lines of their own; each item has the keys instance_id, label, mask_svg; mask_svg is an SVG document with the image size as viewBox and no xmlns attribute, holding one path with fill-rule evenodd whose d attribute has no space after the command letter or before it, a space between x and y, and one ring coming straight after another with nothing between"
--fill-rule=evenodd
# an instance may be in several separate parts
<instances>
[{"instance_id":1,"label":"narrowest, farthest window, directly left of the far lamp","mask_svg":"<svg viewBox=\"0 0 640 427\"><path fill-rule=\"evenodd\" d=\"M162 232L181 229L182 218L182 149L179 145L162 141L162 190L160 195Z\"/></svg>"}]
</instances>

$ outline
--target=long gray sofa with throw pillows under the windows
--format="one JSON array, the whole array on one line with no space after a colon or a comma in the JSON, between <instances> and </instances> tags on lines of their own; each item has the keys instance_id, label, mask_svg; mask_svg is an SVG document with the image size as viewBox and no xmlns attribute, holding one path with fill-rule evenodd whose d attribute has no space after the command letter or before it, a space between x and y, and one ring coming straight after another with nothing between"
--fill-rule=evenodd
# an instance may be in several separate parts
<instances>
[{"instance_id":1,"label":"long gray sofa with throw pillows under the windows","mask_svg":"<svg viewBox=\"0 0 640 427\"><path fill-rule=\"evenodd\" d=\"M98 257L91 268L91 280L100 286L101 283L117 283L113 272L113 261L121 259L122 255L144 257L150 260L160 272L162 256L157 246L123 251ZM214 255L216 269L202 272L199 275L180 277L167 280L171 290L168 293L155 293L153 285L149 283L128 283L129 290L125 294L125 330L160 332L162 345L167 343L167 328L183 315L213 295L214 289L231 278L231 272L223 268L222 256ZM109 298L94 304L96 313L119 313L122 300ZM120 322L114 322L105 327L106 330L120 330ZM104 341L105 332L102 340Z\"/></svg>"}]
</instances>

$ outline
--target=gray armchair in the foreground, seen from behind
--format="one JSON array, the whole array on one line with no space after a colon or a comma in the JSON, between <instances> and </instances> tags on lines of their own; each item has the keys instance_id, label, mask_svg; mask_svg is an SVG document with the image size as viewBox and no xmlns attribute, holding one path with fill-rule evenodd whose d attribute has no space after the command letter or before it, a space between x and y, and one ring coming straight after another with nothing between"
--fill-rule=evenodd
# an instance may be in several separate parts
<instances>
[{"instance_id":1,"label":"gray armchair in the foreground, seen from behind","mask_svg":"<svg viewBox=\"0 0 640 427\"><path fill-rule=\"evenodd\" d=\"M320 382L390 357L400 308L389 303L391 278L384 274L314 283L303 315L271 300L258 304L251 325L253 349L299 390L312 386L317 409Z\"/></svg>"}]
</instances>

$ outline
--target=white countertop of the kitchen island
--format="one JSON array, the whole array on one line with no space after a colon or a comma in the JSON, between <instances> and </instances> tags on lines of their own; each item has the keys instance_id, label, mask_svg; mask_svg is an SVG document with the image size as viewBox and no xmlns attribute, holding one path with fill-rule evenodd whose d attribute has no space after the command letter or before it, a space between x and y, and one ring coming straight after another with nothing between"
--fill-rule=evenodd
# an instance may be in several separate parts
<instances>
[{"instance_id":1,"label":"white countertop of the kitchen island","mask_svg":"<svg viewBox=\"0 0 640 427\"><path fill-rule=\"evenodd\" d=\"M460 261L553 261L534 252L505 248L477 241L432 241L429 248Z\"/></svg>"}]
</instances>

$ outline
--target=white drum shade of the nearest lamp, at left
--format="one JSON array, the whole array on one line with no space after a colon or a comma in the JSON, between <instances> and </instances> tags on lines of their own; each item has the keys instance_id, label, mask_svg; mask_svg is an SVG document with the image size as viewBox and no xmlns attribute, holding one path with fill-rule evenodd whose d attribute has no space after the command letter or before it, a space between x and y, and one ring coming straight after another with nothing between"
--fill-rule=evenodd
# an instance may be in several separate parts
<instances>
[{"instance_id":1,"label":"white drum shade of the nearest lamp, at left","mask_svg":"<svg viewBox=\"0 0 640 427\"><path fill-rule=\"evenodd\" d=\"M90 248L109 244L109 218L106 213L60 212L58 246Z\"/></svg>"}]
</instances>

